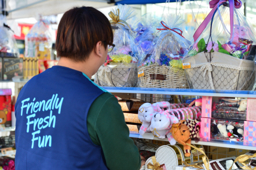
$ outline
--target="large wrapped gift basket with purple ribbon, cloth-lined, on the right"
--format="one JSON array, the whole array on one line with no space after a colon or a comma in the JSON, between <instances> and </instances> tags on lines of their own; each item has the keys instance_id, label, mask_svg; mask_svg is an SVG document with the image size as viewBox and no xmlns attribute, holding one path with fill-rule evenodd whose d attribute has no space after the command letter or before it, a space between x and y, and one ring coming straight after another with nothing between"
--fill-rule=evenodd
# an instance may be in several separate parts
<instances>
[{"instance_id":1,"label":"large wrapped gift basket with purple ribbon, cloth-lined, on the right","mask_svg":"<svg viewBox=\"0 0 256 170\"><path fill-rule=\"evenodd\" d=\"M255 31L239 0L210 1L213 8L182 60L190 88L251 90L255 80Z\"/></svg>"}]
</instances>

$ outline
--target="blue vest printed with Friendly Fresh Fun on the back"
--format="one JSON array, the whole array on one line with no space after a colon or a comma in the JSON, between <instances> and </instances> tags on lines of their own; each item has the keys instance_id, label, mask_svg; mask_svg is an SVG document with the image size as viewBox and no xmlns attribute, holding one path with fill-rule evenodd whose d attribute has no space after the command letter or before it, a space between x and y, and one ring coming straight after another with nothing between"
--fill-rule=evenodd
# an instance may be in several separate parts
<instances>
[{"instance_id":1,"label":"blue vest printed with Friendly Fresh Fun on the back","mask_svg":"<svg viewBox=\"0 0 256 170\"><path fill-rule=\"evenodd\" d=\"M105 91L85 74L53 66L33 77L15 105L16 170L108 169L87 130L87 113Z\"/></svg>"}]
</instances>

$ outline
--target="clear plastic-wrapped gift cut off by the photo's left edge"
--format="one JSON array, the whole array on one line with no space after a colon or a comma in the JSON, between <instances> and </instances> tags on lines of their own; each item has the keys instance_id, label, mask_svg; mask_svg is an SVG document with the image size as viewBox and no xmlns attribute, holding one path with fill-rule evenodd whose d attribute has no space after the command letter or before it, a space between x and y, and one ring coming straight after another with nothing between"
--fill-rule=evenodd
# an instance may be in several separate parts
<instances>
[{"instance_id":1,"label":"clear plastic-wrapped gift cut off by the photo's left edge","mask_svg":"<svg viewBox=\"0 0 256 170\"><path fill-rule=\"evenodd\" d=\"M19 49L14 38L14 32L8 25L3 24L0 27L0 56L1 57L19 57Z\"/></svg>"}]
</instances>

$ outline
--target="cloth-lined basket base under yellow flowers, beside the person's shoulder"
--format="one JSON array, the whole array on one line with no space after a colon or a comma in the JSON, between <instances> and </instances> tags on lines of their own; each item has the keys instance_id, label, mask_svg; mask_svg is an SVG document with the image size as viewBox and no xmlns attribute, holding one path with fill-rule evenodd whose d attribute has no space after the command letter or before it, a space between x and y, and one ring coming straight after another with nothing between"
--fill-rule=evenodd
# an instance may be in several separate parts
<instances>
[{"instance_id":1,"label":"cloth-lined basket base under yellow flowers, beside the person's shoulder","mask_svg":"<svg viewBox=\"0 0 256 170\"><path fill-rule=\"evenodd\" d=\"M138 80L136 63L101 65L96 73L95 83L99 86L135 87Z\"/></svg>"}]
</instances>

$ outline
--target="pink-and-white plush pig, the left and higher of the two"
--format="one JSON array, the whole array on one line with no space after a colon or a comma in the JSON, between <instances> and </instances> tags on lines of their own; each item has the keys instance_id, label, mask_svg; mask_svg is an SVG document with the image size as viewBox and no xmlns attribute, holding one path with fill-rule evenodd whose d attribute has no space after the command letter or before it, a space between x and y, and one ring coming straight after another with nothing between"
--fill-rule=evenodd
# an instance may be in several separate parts
<instances>
[{"instance_id":1,"label":"pink-and-white plush pig, the left and higher of the two","mask_svg":"<svg viewBox=\"0 0 256 170\"><path fill-rule=\"evenodd\" d=\"M138 119L142 122L139 134L144 135L145 132L150 132L149 126L151 125L151 120L156 112L162 112L162 108L169 108L169 102L156 102L155 104L145 103L138 109Z\"/></svg>"}]
</instances>

